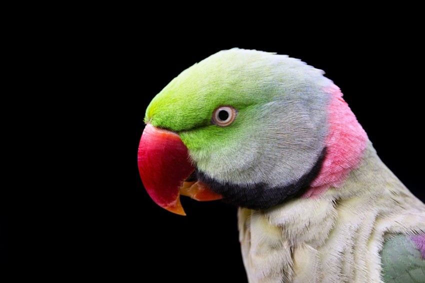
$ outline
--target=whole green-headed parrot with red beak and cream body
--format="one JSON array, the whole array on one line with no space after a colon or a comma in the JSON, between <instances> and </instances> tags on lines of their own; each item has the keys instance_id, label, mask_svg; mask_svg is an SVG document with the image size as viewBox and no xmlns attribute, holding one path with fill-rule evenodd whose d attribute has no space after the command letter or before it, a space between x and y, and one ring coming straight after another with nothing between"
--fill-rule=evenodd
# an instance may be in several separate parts
<instances>
[{"instance_id":1,"label":"whole green-headed parrot with red beak and cream body","mask_svg":"<svg viewBox=\"0 0 425 283\"><path fill-rule=\"evenodd\" d=\"M250 283L425 283L425 205L379 159L322 70L233 48L149 103L137 163L161 208L238 207Z\"/></svg>"}]
</instances>

